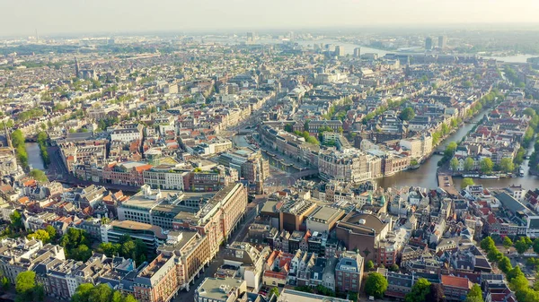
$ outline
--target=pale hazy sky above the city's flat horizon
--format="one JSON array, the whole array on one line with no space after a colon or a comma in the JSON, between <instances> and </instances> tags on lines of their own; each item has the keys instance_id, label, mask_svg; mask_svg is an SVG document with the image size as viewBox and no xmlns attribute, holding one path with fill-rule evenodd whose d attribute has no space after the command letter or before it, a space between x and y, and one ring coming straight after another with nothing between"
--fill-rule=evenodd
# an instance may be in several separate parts
<instances>
[{"instance_id":1,"label":"pale hazy sky above the city's flat horizon","mask_svg":"<svg viewBox=\"0 0 539 302\"><path fill-rule=\"evenodd\" d=\"M0 35L539 22L539 0L0 0ZM538 23L539 24L539 23ZM539 25L538 25L539 29Z\"/></svg>"}]
</instances>

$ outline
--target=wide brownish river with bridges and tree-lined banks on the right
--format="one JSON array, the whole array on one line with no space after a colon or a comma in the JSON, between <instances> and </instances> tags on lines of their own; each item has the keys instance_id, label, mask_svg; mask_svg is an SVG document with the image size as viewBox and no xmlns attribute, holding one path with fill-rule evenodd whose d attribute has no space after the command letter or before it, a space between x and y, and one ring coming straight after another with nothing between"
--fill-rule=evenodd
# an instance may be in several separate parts
<instances>
[{"instance_id":1,"label":"wide brownish river with bridges and tree-lined banks on the right","mask_svg":"<svg viewBox=\"0 0 539 302\"><path fill-rule=\"evenodd\" d=\"M482 116L487 113L489 109L483 110L479 115L473 117L472 122L463 125L460 129L455 131L454 134L449 135L447 139L441 143L442 150L446 149L446 145L449 142L460 142L464 135L468 134L472 130L475 123L482 119ZM533 147L532 147L533 148ZM377 180L378 186L382 187L400 187L400 186L420 186L426 188L437 188L437 162L442 158L441 155L434 154L429 160L426 160L421 164L420 168L415 170L408 170L399 172L391 177L383 177ZM522 185L525 188L536 188L539 186L539 177L529 175L528 160L525 160L522 164L525 169L524 177L517 178L500 178L500 179L473 179L476 184L481 184L485 187L507 187L511 185ZM462 182L461 177L453 178L454 184L457 189L460 188Z\"/></svg>"}]
</instances>

